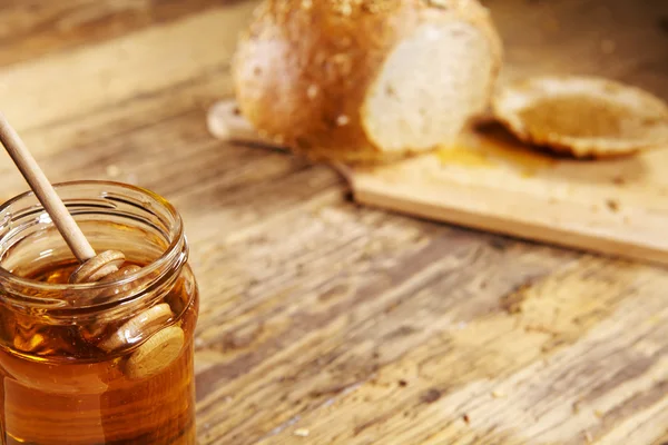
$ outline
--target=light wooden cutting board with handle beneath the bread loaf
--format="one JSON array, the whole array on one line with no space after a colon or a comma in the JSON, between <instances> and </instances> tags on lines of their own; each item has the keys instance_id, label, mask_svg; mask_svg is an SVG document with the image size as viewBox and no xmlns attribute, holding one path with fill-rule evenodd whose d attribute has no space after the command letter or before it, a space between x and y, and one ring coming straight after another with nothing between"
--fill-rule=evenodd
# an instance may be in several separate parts
<instances>
[{"instance_id":1,"label":"light wooden cutting board with handle beneath the bread loaf","mask_svg":"<svg viewBox=\"0 0 668 445\"><path fill-rule=\"evenodd\" d=\"M234 112L209 111L224 139L271 145ZM499 123L464 132L431 155L343 167L356 201L519 238L668 265L668 147L607 159L557 158Z\"/></svg>"}]
</instances>

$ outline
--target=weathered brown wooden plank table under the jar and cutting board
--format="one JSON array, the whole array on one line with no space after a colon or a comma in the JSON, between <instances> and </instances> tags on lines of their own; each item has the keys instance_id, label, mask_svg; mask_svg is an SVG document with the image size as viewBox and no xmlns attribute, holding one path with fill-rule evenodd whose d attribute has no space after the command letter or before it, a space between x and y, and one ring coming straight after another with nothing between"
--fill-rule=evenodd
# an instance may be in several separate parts
<instances>
[{"instance_id":1,"label":"weathered brown wooden plank table under the jar and cutting board","mask_svg":"<svg viewBox=\"0 0 668 445\"><path fill-rule=\"evenodd\" d=\"M255 4L0 2L0 106L48 176L185 218L200 443L668 441L666 270L363 208L325 166L207 134ZM504 76L668 99L668 2L487 4ZM26 189L7 157L0 177L2 200Z\"/></svg>"}]
</instances>

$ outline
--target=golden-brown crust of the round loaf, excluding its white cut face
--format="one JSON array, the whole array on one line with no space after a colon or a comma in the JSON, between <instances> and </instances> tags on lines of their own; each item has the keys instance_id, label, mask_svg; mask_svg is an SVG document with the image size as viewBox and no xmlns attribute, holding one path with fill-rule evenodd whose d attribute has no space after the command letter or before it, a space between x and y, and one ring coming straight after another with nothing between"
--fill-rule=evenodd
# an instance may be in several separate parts
<instances>
[{"instance_id":1,"label":"golden-brown crust of the round loaf, excluding its white cut face","mask_svg":"<svg viewBox=\"0 0 668 445\"><path fill-rule=\"evenodd\" d=\"M242 113L264 136L315 160L377 162L420 151L375 147L361 119L387 55L424 22L459 20L502 46L475 0L266 0L233 60ZM490 82L491 97L493 81Z\"/></svg>"}]
</instances>

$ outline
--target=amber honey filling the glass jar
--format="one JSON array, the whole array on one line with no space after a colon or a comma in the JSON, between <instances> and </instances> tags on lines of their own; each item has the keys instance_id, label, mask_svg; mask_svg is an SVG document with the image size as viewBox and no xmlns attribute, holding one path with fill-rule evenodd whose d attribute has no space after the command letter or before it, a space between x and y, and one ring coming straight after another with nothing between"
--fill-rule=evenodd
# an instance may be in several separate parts
<instances>
[{"instance_id":1,"label":"amber honey filling the glass jar","mask_svg":"<svg viewBox=\"0 0 668 445\"><path fill-rule=\"evenodd\" d=\"M67 284L75 267L57 264L27 278ZM193 330L198 307L196 287L185 268L151 304L170 306L175 316L165 326L180 327L186 342L173 362L139 378L128 375L127 363L148 338L130 339L114 353L96 345L132 312L106 320L91 335L94 329L86 323L56 324L39 312L26 314L0 304L0 336L6 345L0 350L3 443L195 444Z\"/></svg>"}]
</instances>

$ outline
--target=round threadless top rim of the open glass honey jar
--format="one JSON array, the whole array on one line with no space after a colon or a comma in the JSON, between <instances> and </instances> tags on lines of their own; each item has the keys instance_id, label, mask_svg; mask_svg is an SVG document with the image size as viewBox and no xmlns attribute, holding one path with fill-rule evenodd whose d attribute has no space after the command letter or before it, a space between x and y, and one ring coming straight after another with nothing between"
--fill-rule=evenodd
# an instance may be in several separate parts
<instances>
[{"instance_id":1,"label":"round threadless top rim of the open glass honey jar","mask_svg":"<svg viewBox=\"0 0 668 445\"><path fill-rule=\"evenodd\" d=\"M53 184L53 188L56 189L56 191L58 191L59 189L66 188L66 187L76 187L76 186L109 186L109 187L112 187L116 189L126 189L126 190L130 190L130 191L144 195L144 196L147 196L150 199L153 199L154 201L158 202L161 206L161 208L164 210L166 210L167 214L173 218L173 221L174 221L173 227L170 228L170 231L169 231L169 238L170 238L169 245L160 254L160 256L158 258L156 258L148 265L141 267L141 269L139 269L138 271L132 273L132 274L127 274L124 278L121 278L119 280L115 280L115 281L81 283L81 284L50 284L50 283L43 283L43 281L38 281L35 279L17 276L14 274L11 274L9 270L7 270L2 267L0 267L0 280L6 280L7 283L10 283L12 285L26 286L26 287L30 287L33 289L40 289L40 290L47 290L47 291L104 290L104 289L109 289L109 288L117 287L117 286L122 286L125 284L128 284L128 283L131 283L135 280L145 279L145 278L150 277L151 275L155 276L157 270L160 270L161 268L166 268L175 261L185 263L184 259L178 258L180 255L183 255L181 249L179 249L179 245L181 245L185 239L183 220L181 220L180 215L176 210L176 208L166 198L156 194L155 191L151 191L151 190L140 187L140 186L135 186L135 185L130 185L130 184L126 184L126 182L110 181L110 180L87 179L87 180L73 180L73 181ZM27 198L31 198L31 197L35 197L35 192L32 190L28 190L20 195L14 196L13 198L10 198L9 200L7 200L2 205L0 205L0 214L2 211L7 210L11 205L19 202L22 199L27 199ZM39 204L39 207L41 207L43 209L43 206L41 204ZM175 258L175 256L176 256L176 258Z\"/></svg>"}]
</instances>

